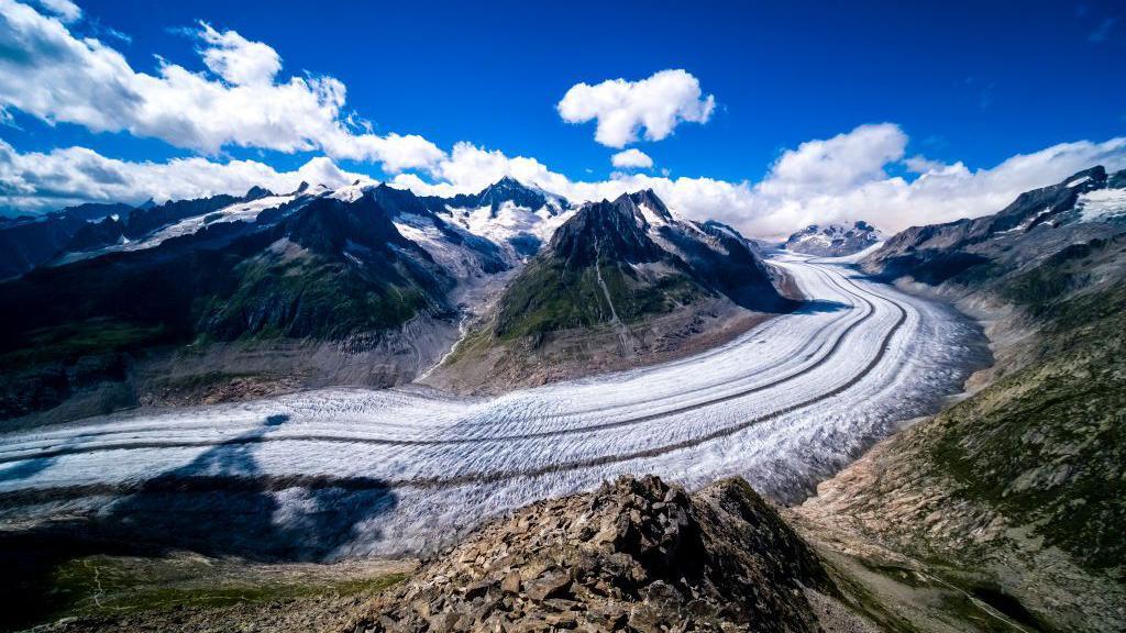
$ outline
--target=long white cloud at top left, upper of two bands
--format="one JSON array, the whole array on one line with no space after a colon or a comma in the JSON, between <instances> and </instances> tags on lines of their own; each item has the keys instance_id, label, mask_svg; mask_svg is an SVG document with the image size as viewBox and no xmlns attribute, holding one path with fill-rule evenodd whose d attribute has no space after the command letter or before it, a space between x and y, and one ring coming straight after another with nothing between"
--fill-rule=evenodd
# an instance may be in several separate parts
<instances>
[{"instance_id":1,"label":"long white cloud at top left, upper of two bands","mask_svg":"<svg viewBox=\"0 0 1126 633\"><path fill-rule=\"evenodd\" d=\"M100 41L75 37L59 17L0 0L0 46L21 52L0 56L0 107L206 154L229 145L322 151L382 162L387 171L427 168L444 157L421 136L357 131L365 125L343 113L343 83L279 79L282 60L266 44L207 24L196 36L209 73L161 62L148 74Z\"/></svg>"}]
</instances>

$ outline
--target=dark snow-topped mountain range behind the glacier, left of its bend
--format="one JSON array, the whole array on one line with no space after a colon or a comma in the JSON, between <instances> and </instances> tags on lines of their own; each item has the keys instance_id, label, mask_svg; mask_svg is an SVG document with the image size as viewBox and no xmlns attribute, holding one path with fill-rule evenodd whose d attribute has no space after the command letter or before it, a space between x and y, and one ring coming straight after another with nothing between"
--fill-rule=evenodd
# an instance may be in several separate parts
<instances>
[{"instance_id":1,"label":"dark snow-topped mountain range behind the glacier, left of its bend","mask_svg":"<svg viewBox=\"0 0 1126 633\"><path fill-rule=\"evenodd\" d=\"M789 305L750 242L653 191L575 206L511 178L452 198L303 184L0 225L28 234L35 257L7 253L0 283L0 417L17 420L399 384L467 316L494 314L490 344L614 332L632 362L649 320L690 339L700 306L745 329Z\"/></svg>"}]
</instances>

